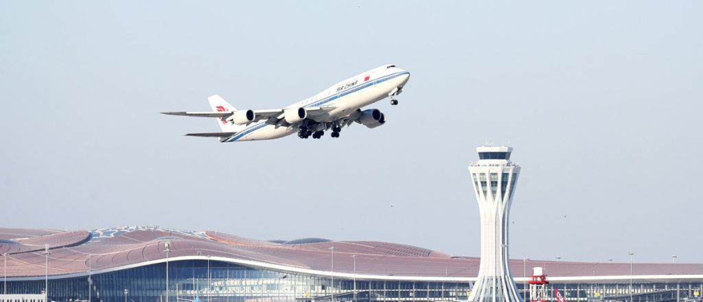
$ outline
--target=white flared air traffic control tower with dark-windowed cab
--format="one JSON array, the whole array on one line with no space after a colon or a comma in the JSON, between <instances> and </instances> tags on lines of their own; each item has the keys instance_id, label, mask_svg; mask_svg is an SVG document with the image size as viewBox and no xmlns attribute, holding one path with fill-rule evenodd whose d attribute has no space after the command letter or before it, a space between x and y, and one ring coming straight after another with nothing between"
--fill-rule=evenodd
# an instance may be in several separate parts
<instances>
[{"instance_id":1,"label":"white flared air traffic control tower with dark-windowed cab","mask_svg":"<svg viewBox=\"0 0 703 302\"><path fill-rule=\"evenodd\" d=\"M477 147L469 166L481 214L481 265L470 302L520 302L508 259L510 204L520 166L510 162L512 147Z\"/></svg>"}]
</instances>

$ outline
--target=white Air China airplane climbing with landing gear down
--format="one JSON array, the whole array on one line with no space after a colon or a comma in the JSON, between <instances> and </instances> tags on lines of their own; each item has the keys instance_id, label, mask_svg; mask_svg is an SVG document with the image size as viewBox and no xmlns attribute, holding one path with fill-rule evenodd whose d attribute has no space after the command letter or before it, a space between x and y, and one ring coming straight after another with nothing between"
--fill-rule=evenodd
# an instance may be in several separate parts
<instances>
[{"instance_id":1,"label":"white Air China airplane climbing with landing gear down","mask_svg":"<svg viewBox=\"0 0 703 302\"><path fill-rule=\"evenodd\" d=\"M340 81L321 93L273 110L237 110L215 94L207 98L211 112L161 112L186 117L215 117L221 132L186 133L186 136L214 137L222 143L245 140L272 140L298 133L299 138L321 138L331 130L340 137L345 126L356 122L368 128L385 124L386 115L378 109L361 110L384 98L398 105L410 72L388 64Z\"/></svg>"}]
</instances>

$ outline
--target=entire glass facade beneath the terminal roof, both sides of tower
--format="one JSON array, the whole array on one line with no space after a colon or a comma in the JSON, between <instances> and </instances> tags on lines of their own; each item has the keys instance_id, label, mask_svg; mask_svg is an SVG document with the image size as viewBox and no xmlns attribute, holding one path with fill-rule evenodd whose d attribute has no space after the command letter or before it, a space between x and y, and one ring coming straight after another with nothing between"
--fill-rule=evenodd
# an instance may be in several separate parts
<instances>
[{"instance_id":1,"label":"entire glass facade beneath the terminal roof, both sides of tower","mask_svg":"<svg viewBox=\"0 0 703 302\"><path fill-rule=\"evenodd\" d=\"M209 267L209 269L208 269ZM92 275L91 301L166 302L165 263ZM547 301L556 301L559 289L565 301L630 301L630 285L624 283L548 284ZM88 300L88 277L49 280L49 301ZM524 284L517 282L520 296L530 300ZM356 280L356 301L465 301L468 282L413 282ZM36 294L44 280L8 281L8 294ZM124 289L128 289L127 296ZM643 282L632 287L633 302L701 301L703 280L679 283ZM354 280L259 270L218 261L172 261L169 263L169 301L278 302L354 301Z\"/></svg>"}]
</instances>

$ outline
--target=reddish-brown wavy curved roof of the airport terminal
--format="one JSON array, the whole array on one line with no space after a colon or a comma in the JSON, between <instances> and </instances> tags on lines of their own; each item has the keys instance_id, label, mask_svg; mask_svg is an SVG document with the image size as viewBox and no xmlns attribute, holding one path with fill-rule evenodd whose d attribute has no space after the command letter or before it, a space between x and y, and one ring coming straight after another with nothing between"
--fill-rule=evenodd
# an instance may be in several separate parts
<instances>
[{"instance_id":1,"label":"reddish-brown wavy curved roof of the airport terminal","mask_svg":"<svg viewBox=\"0 0 703 302\"><path fill-rule=\"evenodd\" d=\"M7 253L8 277L44 276L44 244L49 245L49 275L69 277L121 270L164 262L165 242L171 242L169 258L205 259L240 263L273 270L331 275L330 247L335 247L335 276L387 280L472 280L479 258L452 257L406 244L373 241L326 241L280 244L222 232L190 232L157 227L120 227L88 231L43 231L0 228L0 254ZM15 243L10 243L15 242ZM553 281L629 280L629 263L579 263L529 261L543 266ZM516 277L522 259L512 260ZM635 279L701 278L703 264L636 263ZM669 276L669 277L667 277ZM520 281L521 278L516 278Z\"/></svg>"}]
</instances>

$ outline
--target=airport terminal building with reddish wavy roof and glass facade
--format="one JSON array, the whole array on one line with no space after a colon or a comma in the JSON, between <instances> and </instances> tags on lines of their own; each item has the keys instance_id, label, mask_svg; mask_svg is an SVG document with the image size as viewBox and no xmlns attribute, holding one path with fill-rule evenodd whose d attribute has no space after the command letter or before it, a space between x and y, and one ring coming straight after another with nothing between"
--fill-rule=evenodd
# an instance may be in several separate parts
<instances>
[{"instance_id":1,"label":"airport terminal building with reddish wavy roof and glass facade","mask_svg":"<svg viewBox=\"0 0 703 302\"><path fill-rule=\"evenodd\" d=\"M405 244L267 242L137 226L0 228L0 253L0 294L37 294L48 284L48 301L465 301L479 270L479 258ZM536 266L566 301L695 301L703 285L703 264L520 259L510 266L528 301L523 272Z\"/></svg>"}]
</instances>

